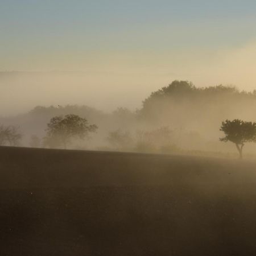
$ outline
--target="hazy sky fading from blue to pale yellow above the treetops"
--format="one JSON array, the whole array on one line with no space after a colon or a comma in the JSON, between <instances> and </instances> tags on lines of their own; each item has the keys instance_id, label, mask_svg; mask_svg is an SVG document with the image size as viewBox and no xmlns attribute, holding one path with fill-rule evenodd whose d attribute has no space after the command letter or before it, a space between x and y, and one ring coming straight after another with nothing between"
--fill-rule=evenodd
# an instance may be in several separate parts
<instances>
[{"instance_id":1,"label":"hazy sky fading from blue to pale yellow above the treetops","mask_svg":"<svg viewBox=\"0 0 256 256\"><path fill-rule=\"evenodd\" d=\"M0 0L0 71L43 73L0 76L0 108L135 109L176 79L256 89L255 12L250 0Z\"/></svg>"}]
</instances>

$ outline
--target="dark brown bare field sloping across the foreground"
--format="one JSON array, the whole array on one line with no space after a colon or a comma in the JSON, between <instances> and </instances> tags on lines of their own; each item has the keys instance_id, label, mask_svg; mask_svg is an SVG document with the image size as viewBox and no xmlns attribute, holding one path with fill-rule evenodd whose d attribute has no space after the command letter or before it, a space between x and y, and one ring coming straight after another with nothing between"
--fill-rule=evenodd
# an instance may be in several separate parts
<instances>
[{"instance_id":1,"label":"dark brown bare field sloping across the foreground","mask_svg":"<svg viewBox=\"0 0 256 256\"><path fill-rule=\"evenodd\" d=\"M0 147L0 255L256 255L255 167Z\"/></svg>"}]
</instances>

